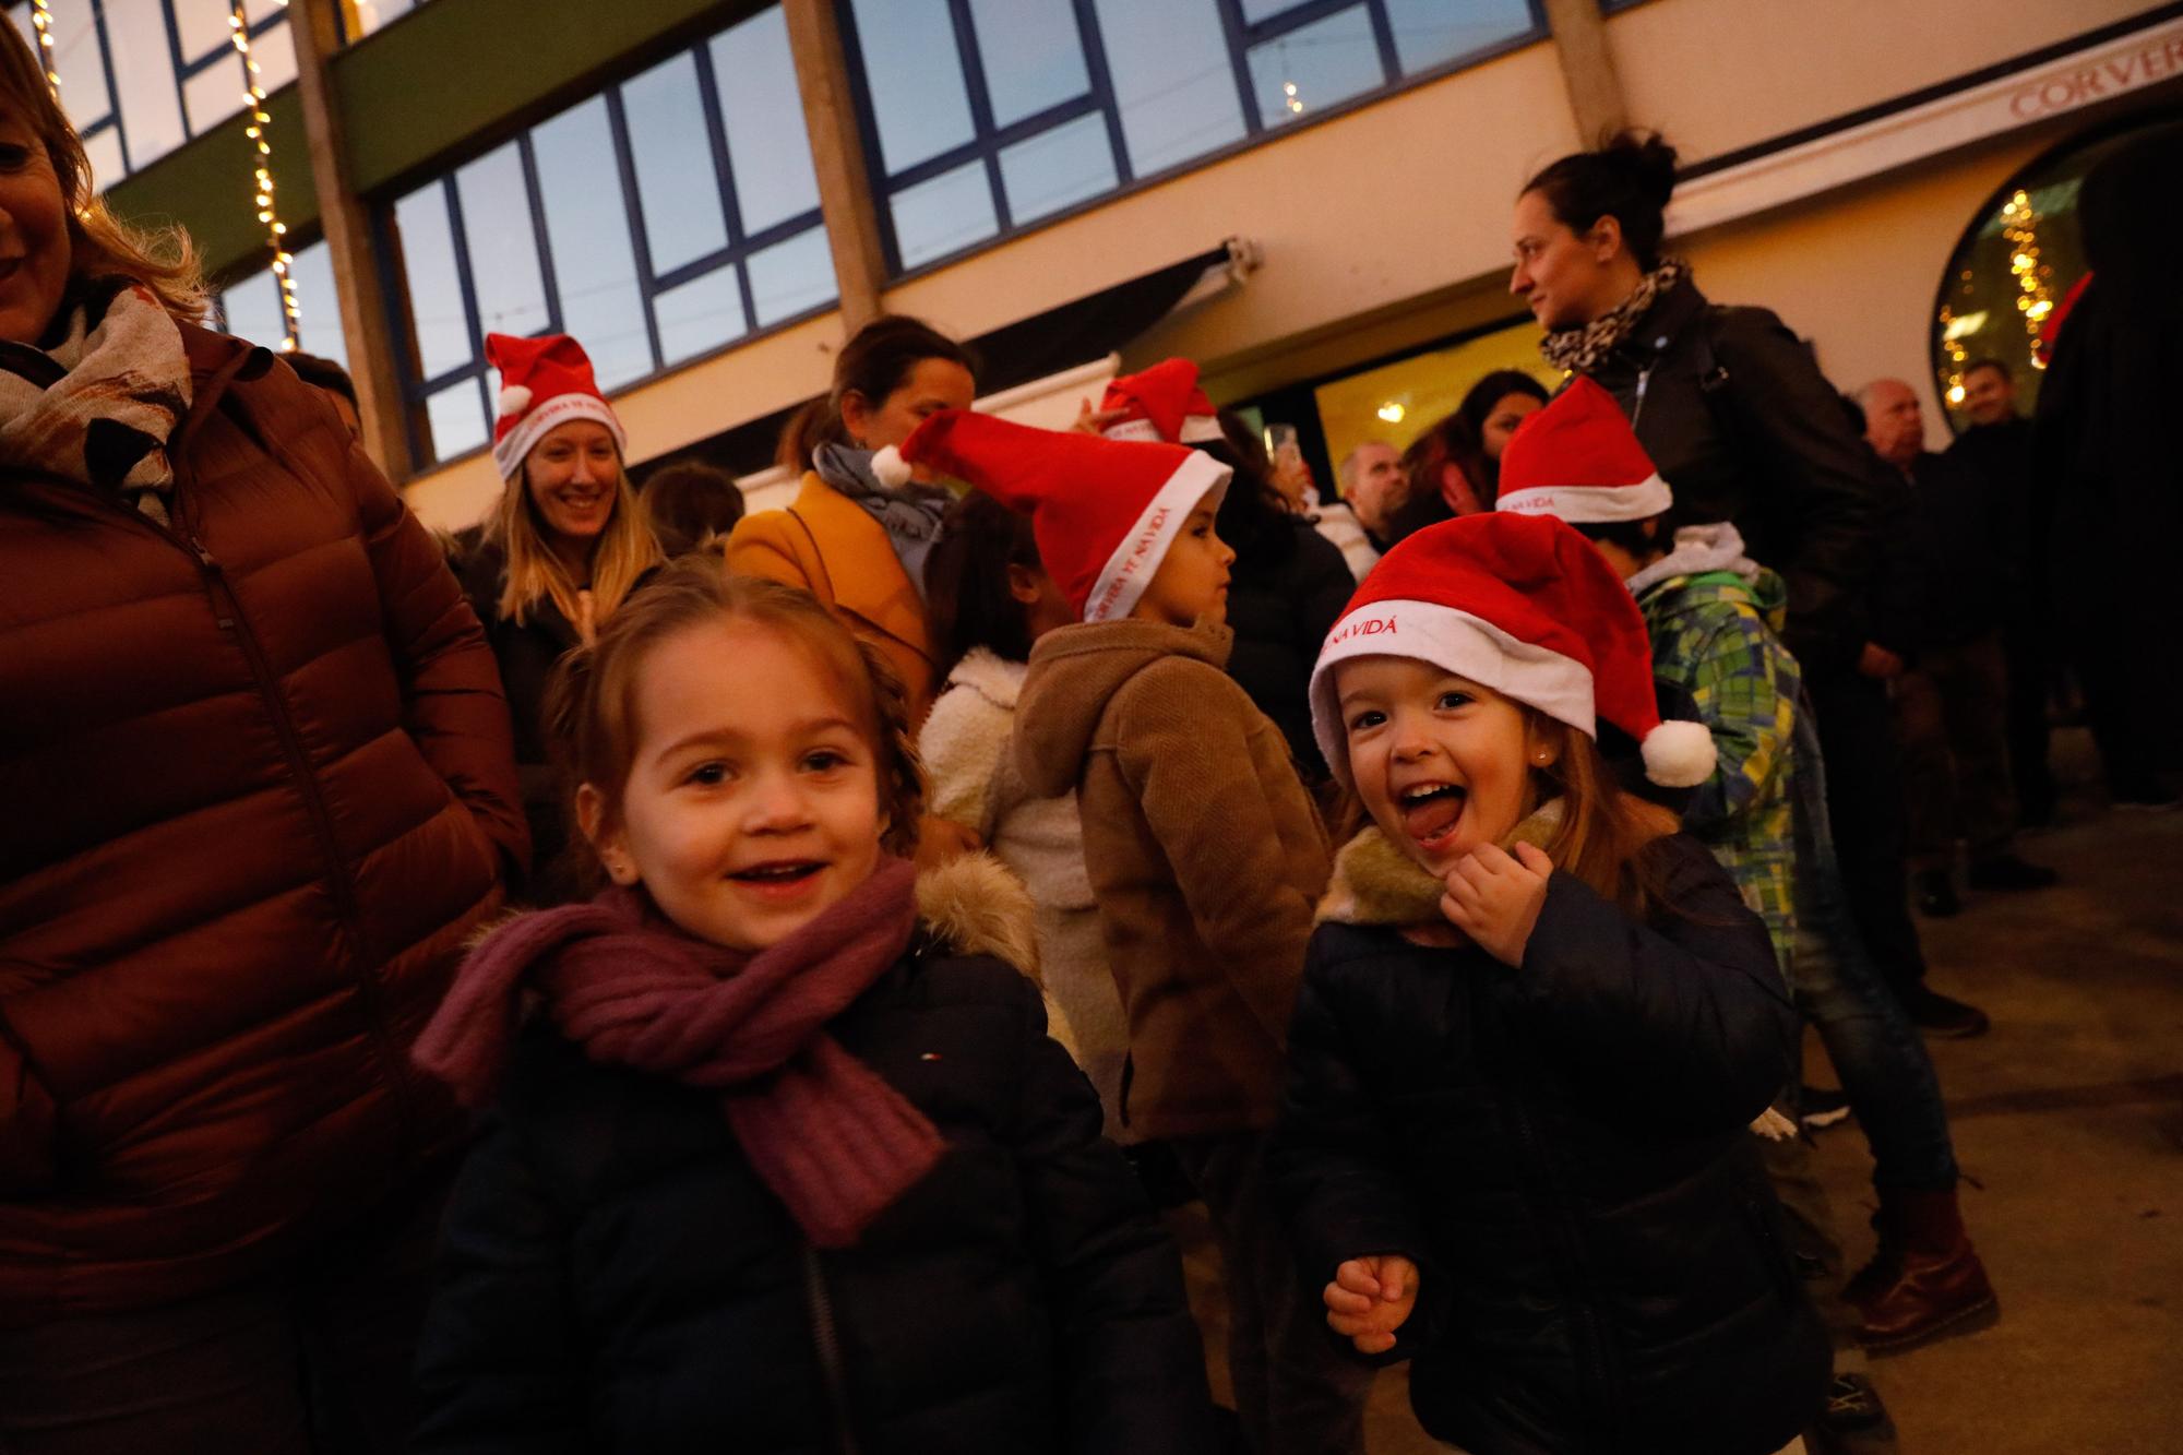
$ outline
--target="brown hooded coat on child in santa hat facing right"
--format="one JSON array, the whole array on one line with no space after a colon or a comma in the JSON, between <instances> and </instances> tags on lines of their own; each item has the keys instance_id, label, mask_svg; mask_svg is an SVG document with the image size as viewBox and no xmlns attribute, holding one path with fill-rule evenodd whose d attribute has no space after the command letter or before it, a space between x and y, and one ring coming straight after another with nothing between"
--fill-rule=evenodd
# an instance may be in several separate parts
<instances>
[{"instance_id":1,"label":"brown hooded coat on child in santa hat facing right","mask_svg":"<svg viewBox=\"0 0 2183 1455\"><path fill-rule=\"evenodd\" d=\"M1281 730L1222 669L1227 627L1039 638L1015 710L1030 793L1078 791L1085 870L1129 1014L1140 1136L1273 1125L1327 835Z\"/></svg>"}]
</instances>

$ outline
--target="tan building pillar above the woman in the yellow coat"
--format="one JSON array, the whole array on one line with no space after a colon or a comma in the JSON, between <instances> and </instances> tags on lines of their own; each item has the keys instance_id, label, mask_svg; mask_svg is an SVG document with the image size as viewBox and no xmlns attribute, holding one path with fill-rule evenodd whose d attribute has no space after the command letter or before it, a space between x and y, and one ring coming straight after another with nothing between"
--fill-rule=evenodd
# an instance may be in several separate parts
<instances>
[{"instance_id":1,"label":"tan building pillar above the woman in the yellow coat","mask_svg":"<svg viewBox=\"0 0 2183 1455\"><path fill-rule=\"evenodd\" d=\"M880 214L864 166L864 140L856 129L849 57L840 46L832 0L784 0L782 15L788 20L788 52L803 96L803 129L812 142L819 212L834 249L840 321L854 334L880 315L886 256L880 249Z\"/></svg>"}]
</instances>

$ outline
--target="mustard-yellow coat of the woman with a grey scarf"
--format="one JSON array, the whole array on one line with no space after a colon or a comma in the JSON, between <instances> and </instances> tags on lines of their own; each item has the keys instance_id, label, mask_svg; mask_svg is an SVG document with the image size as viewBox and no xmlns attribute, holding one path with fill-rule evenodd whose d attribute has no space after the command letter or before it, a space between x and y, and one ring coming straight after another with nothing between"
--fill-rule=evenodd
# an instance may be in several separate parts
<instances>
[{"instance_id":1,"label":"mustard-yellow coat of the woman with a grey scarf","mask_svg":"<svg viewBox=\"0 0 2183 1455\"><path fill-rule=\"evenodd\" d=\"M816 474L784 511L758 511L727 537L727 568L801 585L880 649L910 697L910 728L932 706L932 631L886 527Z\"/></svg>"}]
</instances>

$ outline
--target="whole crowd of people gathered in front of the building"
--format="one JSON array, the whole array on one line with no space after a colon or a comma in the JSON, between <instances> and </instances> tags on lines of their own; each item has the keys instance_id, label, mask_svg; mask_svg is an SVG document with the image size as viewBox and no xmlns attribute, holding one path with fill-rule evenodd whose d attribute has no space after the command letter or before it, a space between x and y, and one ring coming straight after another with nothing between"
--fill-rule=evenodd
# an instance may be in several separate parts
<instances>
[{"instance_id":1,"label":"whole crowd of people gathered in front of the building","mask_svg":"<svg viewBox=\"0 0 2183 1455\"><path fill-rule=\"evenodd\" d=\"M1513 205L1567 382L1338 498L1190 360L1039 430L882 317L747 516L496 334L445 542L0 61L0 1451L1332 1455L1408 1361L1474 1455L1768 1455L1995 1317L1910 904L2052 883L2065 666L2163 800L2172 682L2048 610L2174 511L2083 404L2179 371L2142 245L1932 457L1629 135Z\"/></svg>"}]
</instances>

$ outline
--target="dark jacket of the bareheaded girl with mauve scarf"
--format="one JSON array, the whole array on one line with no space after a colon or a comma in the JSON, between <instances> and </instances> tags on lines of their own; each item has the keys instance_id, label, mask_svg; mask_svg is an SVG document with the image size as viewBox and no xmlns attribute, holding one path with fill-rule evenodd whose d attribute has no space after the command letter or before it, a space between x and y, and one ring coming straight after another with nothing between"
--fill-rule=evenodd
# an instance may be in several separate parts
<instances>
[{"instance_id":1,"label":"dark jacket of the bareheaded girl with mauve scarf","mask_svg":"<svg viewBox=\"0 0 2183 1455\"><path fill-rule=\"evenodd\" d=\"M1181 1263L1039 990L921 933L827 1029L947 1154L823 1254L716 1092L522 1036L448 1212L413 1448L1207 1451Z\"/></svg>"}]
</instances>

